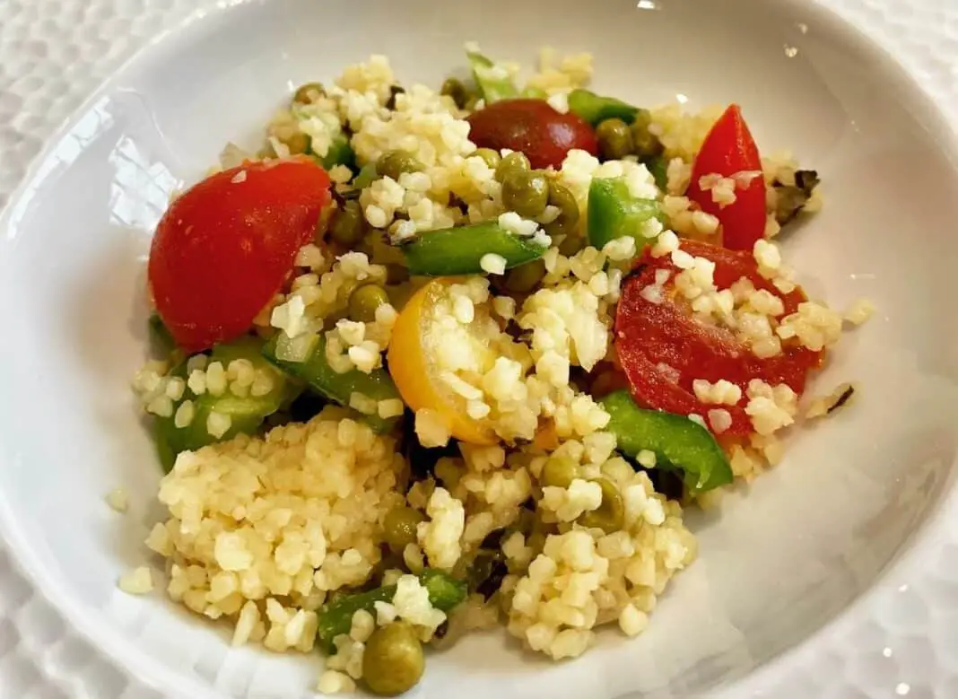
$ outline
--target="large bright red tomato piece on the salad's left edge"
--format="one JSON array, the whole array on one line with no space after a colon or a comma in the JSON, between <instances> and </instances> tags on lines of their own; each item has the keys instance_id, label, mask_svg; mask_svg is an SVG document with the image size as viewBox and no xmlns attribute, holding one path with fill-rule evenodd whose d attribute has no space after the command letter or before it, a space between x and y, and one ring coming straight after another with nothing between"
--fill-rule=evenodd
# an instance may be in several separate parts
<instances>
[{"instance_id":1,"label":"large bright red tomato piece on the salad's left edge","mask_svg":"<svg viewBox=\"0 0 958 699\"><path fill-rule=\"evenodd\" d=\"M176 343L198 352L246 333L330 200L329 175L303 158L246 163L173 201L156 228L148 277Z\"/></svg>"}]
</instances>

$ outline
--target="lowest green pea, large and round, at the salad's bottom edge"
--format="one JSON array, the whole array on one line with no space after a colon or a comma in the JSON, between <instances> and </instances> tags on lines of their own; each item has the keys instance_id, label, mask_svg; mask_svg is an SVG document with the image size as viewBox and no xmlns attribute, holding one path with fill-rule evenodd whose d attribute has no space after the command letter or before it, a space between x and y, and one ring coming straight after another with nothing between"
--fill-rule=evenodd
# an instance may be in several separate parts
<instances>
[{"instance_id":1,"label":"lowest green pea, large and round, at the salad's bottom edge","mask_svg":"<svg viewBox=\"0 0 958 699\"><path fill-rule=\"evenodd\" d=\"M393 622L373 632L362 656L362 676L370 691L395 696L416 687L425 669L422 643L409 624Z\"/></svg>"}]
</instances>

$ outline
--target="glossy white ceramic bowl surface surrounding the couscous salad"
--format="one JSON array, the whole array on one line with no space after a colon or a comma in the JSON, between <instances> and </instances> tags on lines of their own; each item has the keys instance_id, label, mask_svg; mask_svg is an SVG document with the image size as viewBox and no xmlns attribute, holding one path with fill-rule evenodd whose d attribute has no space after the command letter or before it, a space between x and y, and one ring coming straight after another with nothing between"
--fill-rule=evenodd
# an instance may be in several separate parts
<instances>
[{"instance_id":1,"label":"glossy white ceramic bowl surface surrounding the couscous salad","mask_svg":"<svg viewBox=\"0 0 958 699\"><path fill-rule=\"evenodd\" d=\"M128 388L145 357L151 230L225 141L252 137L296 84L371 53L403 82L437 85L464 71L467 39L526 63L548 43L592 52L597 91L640 105L738 102L764 151L790 148L822 175L824 210L784 240L806 289L839 308L859 296L878 306L812 386L859 382L855 405L792 434L785 461L718 514L690 514L701 557L648 632L603 632L601 649L557 665L504 635L469 638L430 660L420 695L686 695L734 680L863 594L951 486L958 171L948 129L890 58L809 3L441 9L277 0L197 16L80 110L0 227L0 522L71 623L171 694L307 695L319 662L230 649L162 594L116 589L148 560L142 541L161 514ZM103 503L118 486L125 517Z\"/></svg>"}]
</instances>

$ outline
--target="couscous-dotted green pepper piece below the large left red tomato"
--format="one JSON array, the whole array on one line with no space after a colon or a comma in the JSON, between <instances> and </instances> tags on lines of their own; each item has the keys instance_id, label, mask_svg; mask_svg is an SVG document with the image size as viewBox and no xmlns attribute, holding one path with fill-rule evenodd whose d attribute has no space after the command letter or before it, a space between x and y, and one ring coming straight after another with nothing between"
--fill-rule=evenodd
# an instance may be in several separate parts
<instances>
[{"instance_id":1,"label":"couscous-dotted green pepper piece below the large left red tomato","mask_svg":"<svg viewBox=\"0 0 958 699\"><path fill-rule=\"evenodd\" d=\"M287 384L283 373L275 369L262 358L262 340L241 338L213 348L210 362L219 361L225 369L231 361L247 360L254 369L270 372L273 390L264 396L246 396L240 398L227 391L219 396L209 391L199 396L187 396L193 401L194 417L189 425L180 428L175 424L175 413L171 417L157 417L153 426L156 450L160 462L166 471L172 468L176 455L180 452L195 451L217 442L232 439L238 434L252 434L260 429L262 421L268 415L279 410L287 398ZM172 376L187 379L186 361L180 361L171 371ZM222 436L216 437L207 430L206 421L210 414L217 412L230 418L230 428Z\"/></svg>"}]
</instances>

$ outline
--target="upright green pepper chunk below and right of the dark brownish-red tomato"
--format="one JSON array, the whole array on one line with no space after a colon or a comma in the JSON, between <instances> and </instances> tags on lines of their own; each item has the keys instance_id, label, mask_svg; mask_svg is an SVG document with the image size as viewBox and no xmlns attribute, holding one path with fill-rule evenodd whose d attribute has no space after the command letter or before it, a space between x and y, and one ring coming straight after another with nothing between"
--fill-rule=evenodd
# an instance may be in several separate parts
<instances>
[{"instance_id":1,"label":"upright green pepper chunk below and right of the dark brownish-red tomato","mask_svg":"<svg viewBox=\"0 0 958 699\"><path fill-rule=\"evenodd\" d=\"M596 178L589 185L589 245L601 250L609 241L631 236L636 254L641 254L654 240L642 234L645 222L653 218L665 223L658 201L633 197L625 178Z\"/></svg>"}]
</instances>

